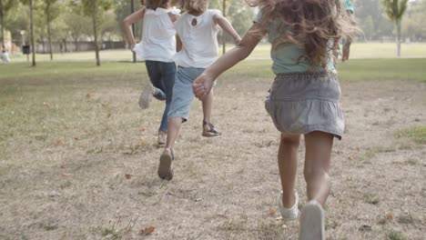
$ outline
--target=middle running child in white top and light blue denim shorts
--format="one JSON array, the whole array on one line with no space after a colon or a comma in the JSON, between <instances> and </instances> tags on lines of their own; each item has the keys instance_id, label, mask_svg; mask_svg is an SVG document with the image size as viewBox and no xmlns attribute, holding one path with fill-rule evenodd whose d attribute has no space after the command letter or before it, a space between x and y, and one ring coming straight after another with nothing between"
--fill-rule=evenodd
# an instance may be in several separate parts
<instances>
[{"instance_id":1,"label":"middle running child in white top and light blue denim shorts","mask_svg":"<svg viewBox=\"0 0 426 240\"><path fill-rule=\"evenodd\" d=\"M187 12L176 22L177 45L181 45L181 50L174 57L177 75L168 112L167 143L158 165L158 175L162 179L173 178L173 147L182 123L188 121L194 98L192 82L218 59L218 26L231 35L236 44L241 39L219 10L208 9L208 2L209 0L177 0L177 5ZM202 100L203 136L219 135L210 121L212 102L213 92L209 92Z\"/></svg>"}]
</instances>

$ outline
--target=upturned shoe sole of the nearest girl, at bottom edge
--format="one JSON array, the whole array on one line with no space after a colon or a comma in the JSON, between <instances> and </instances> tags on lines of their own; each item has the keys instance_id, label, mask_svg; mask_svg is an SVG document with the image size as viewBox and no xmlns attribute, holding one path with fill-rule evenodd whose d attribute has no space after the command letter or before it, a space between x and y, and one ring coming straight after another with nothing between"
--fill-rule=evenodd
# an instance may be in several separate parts
<instances>
[{"instance_id":1,"label":"upturned shoe sole of the nearest girl, at bottom edge","mask_svg":"<svg viewBox=\"0 0 426 240\"><path fill-rule=\"evenodd\" d=\"M299 240L325 240L324 211L318 203L303 206L300 214Z\"/></svg>"}]
</instances>

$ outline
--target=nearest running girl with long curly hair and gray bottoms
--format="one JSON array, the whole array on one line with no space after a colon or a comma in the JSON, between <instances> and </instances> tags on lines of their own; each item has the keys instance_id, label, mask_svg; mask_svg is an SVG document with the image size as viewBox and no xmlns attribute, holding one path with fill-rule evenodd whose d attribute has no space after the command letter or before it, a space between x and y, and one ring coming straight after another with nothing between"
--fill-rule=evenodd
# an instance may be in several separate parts
<instances>
[{"instance_id":1,"label":"nearest running girl with long curly hair and gray bottoms","mask_svg":"<svg viewBox=\"0 0 426 240\"><path fill-rule=\"evenodd\" d=\"M325 239L323 206L330 195L331 147L334 137L341 139L344 128L332 50L335 40L351 35L355 27L340 1L257 1L253 5L259 5L260 12L249 32L193 84L194 94L204 99L218 75L248 57L268 34L276 77L265 106L281 133L279 212L285 220L297 219L299 215L295 181L303 135L309 200L300 214L299 239L303 240Z\"/></svg>"}]
</instances>

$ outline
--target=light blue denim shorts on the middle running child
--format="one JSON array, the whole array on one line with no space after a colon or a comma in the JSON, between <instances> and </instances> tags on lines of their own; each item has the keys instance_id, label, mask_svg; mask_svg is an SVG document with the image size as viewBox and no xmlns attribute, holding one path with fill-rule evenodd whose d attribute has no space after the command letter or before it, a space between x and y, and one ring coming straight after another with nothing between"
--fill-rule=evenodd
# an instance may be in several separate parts
<instances>
[{"instance_id":1,"label":"light blue denim shorts on the middle running child","mask_svg":"<svg viewBox=\"0 0 426 240\"><path fill-rule=\"evenodd\" d=\"M192 92L192 83L201 75L206 68L196 67L177 67L175 86L173 87L172 102L168 110L168 118L180 116L183 121L188 120L191 110L194 93Z\"/></svg>"}]
</instances>

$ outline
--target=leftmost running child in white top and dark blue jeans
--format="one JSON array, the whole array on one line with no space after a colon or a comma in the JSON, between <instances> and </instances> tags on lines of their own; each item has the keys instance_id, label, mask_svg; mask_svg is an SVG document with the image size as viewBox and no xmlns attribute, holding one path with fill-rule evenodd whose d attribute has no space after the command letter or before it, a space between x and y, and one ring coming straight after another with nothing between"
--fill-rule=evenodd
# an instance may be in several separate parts
<instances>
[{"instance_id":1,"label":"leftmost running child in white top and dark blue jeans","mask_svg":"<svg viewBox=\"0 0 426 240\"><path fill-rule=\"evenodd\" d=\"M127 42L137 58L145 60L150 84L139 97L142 109L149 106L150 96L158 100L166 100L161 124L158 129L158 145L166 144L167 114L170 108L173 85L175 85L176 65L176 29L174 22L177 13L171 11L168 0L147 0L146 6L136 13L128 15L124 20ZM144 5L144 1L140 1ZM130 25L143 19L142 41L136 44Z\"/></svg>"}]
</instances>

